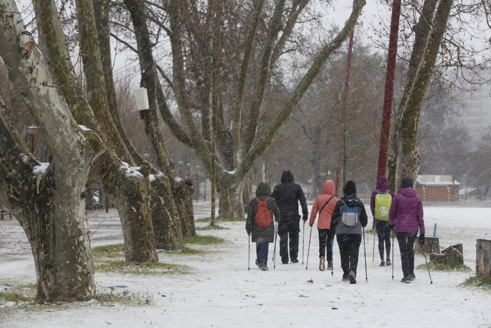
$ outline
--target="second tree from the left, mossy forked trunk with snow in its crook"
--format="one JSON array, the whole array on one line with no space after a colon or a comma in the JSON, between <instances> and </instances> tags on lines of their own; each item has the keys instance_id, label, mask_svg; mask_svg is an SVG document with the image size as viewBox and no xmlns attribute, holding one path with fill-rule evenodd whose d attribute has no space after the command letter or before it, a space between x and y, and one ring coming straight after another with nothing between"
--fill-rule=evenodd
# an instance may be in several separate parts
<instances>
[{"instance_id":1,"label":"second tree from the left, mossy forked trunk with snow in its crook","mask_svg":"<svg viewBox=\"0 0 491 328\"><path fill-rule=\"evenodd\" d=\"M90 2L89 2L90 3ZM86 14L88 4L84 4L79 10L79 14ZM111 121L108 111L108 104L105 102L105 83L100 70L101 61L97 55L86 56L85 66L99 67L86 71L87 89L91 94L92 106L98 108L95 112L97 118L92 112L92 107L89 105L85 95L81 93L80 86L77 84L77 78L71 69L68 57L64 56L68 53L64 37L61 32L61 27L56 16L55 3L51 0L43 0L34 2L34 8L37 13L37 19L41 28L41 33L46 35L47 49L50 68L55 77L56 84L60 87L59 92L67 99L73 116L79 119L79 123L88 126L98 132L103 138L105 145L115 146L120 149L119 154L124 156L129 164L122 161L112 149L99 158L98 163L94 166L93 174L101 180L104 191L108 193L116 208L118 209L123 236L125 241L125 258L128 262L153 262L158 261L155 242L148 235L152 235L152 225L150 217L149 203L149 184L148 179L141 174L130 174L128 167L133 163L128 152L125 150L119 138L119 133L114 128L114 124L109 124ZM92 15L93 16L93 15ZM86 18L87 19L87 18ZM85 22L85 25L90 23ZM83 28L85 34L94 32L92 24L92 32L89 32L87 26ZM91 38L93 43L97 42L97 38ZM82 42L82 51L89 52L89 48ZM91 44L94 51L97 50L97 44ZM91 50L92 51L92 50ZM105 121L105 124L99 124L99 121ZM106 129L112 132L106 133ZM118 146L119 145L119 146ZM138 209L138 210L136 210Z\"/></svg>"}]
</instances>

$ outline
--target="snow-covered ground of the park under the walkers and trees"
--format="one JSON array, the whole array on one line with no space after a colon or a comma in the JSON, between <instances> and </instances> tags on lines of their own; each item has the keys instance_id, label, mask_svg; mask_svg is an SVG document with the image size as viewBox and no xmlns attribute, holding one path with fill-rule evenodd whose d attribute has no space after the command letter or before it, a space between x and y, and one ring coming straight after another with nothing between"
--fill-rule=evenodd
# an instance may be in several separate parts
<instances>
[{"instance_id":1,"label":"snow-covered ground of the park under the walkers and trees","mask_svg":"<svg viewBox=\"0 0 491 328\"><path fill-rule=\"evenodd\" d=\"M443 206L442 206L443 205ZM196 218L209 216L210 203L195 204ZM479 206L479 207L478 207ZM481 207L482 206L482 207ZM148 293L150 305L69 305L66 309L0 308L0 327L491 327L491 294L459 287L474 274L476 239L491 239L491 208L483 203L425 204L427 235L437 223L440 246L464 244L464 261L472 271L416 270L411 284L402 278L398 247L394 280L391 267L372 262L374 236L366 237L368 282L365 281L363 245L358 283L341 281L339 252L334 244L334 275L318 269L318 236L312 231L308 270L300 263L276 263L270 247L267 272L253 265L247 270L244 222L220 223L227 230L199 231L226 240L196 246L204 255L159 254L161 262L185 264L190 274L117 275L96 272L98 290L126 285L130 292ZM13 221L12 221L13 222ZM0 221L0 285L33 283L35 272L27 239L18 225ZM371 225L371 220L369 220ZM203 226L203 223L197 226ZM122 242L117 213L91 212L92 246ZM97 231L96 231L97 229ZM308 234L305 229L305 261ZM396 241L397 244L397 241ZM377 250L376 250L377 252ZM424 263L416 257L416 266ZM313 280L313 283L307 282ZM107 289L106 289L107 290Z\"/></svg>"}]
</instances>

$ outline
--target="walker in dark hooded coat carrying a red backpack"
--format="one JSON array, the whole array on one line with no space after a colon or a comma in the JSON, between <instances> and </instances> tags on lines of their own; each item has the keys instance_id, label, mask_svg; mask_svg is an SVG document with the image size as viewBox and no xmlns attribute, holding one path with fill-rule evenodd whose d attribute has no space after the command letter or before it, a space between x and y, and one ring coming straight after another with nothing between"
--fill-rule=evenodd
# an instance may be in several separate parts
<instances>
[{"instance_id":1,"label":"walker in dark hooded coat carrying a red backpack","mask_svg":"<svg viewBox=\"0 0 491 328\"><path fill-rule=\"evenodd\" d=\"M267 213L263 211L262 206L267 207L269 217L265 217ZM268 183L261 182L256 188L256 198L251 199L249 203L246 231L251 235L252 242L256 243L256 265L263 271L268 270L269 243L274 241L273 216L274 221L279 222L280 211L274 198L271 198L271 188Z\"/></svg>"}]
</instances>

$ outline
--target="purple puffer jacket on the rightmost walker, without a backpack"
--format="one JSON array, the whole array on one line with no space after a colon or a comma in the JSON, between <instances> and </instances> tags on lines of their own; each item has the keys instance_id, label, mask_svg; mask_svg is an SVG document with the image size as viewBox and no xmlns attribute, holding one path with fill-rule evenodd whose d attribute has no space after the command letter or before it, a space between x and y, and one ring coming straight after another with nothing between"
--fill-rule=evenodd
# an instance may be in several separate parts
<instances>
[{"instance_id":1,"label":"purple puffer jacket on the rightmost walker, without a backpack","mask_svg":"<svg viewBox=\"0 0 491 328\"><path fill-rule=\"evenodd\" d=\"M425 233L423 220L423 203L413 188L403 188L400 194L392 198L389 210L389 224L395 232L413 234Z\"/></svg>"}]
</instances>

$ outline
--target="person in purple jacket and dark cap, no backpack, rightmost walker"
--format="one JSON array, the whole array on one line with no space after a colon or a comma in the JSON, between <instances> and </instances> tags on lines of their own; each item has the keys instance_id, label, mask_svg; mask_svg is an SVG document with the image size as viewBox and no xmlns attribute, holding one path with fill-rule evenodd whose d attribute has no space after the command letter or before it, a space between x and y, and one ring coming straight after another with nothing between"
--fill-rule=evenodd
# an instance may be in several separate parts
<instances>
[{"instance_id":1,"label":"person in purple jacket and dark cap, no backpack, rightmost walker","mask_svg":"<svg viewBox=\"0 0 491 328\"><path fill-rule=\"evenodd\" d=\"M419 241L425 238L423 203L412 187L412 179L403 178L401 192L392 199L389 210L389 224L394 229L401 251L401 264L404 278L401 282L410 283L414 275L414 241L419 230Z\"/></svg>"}]
</instances>

